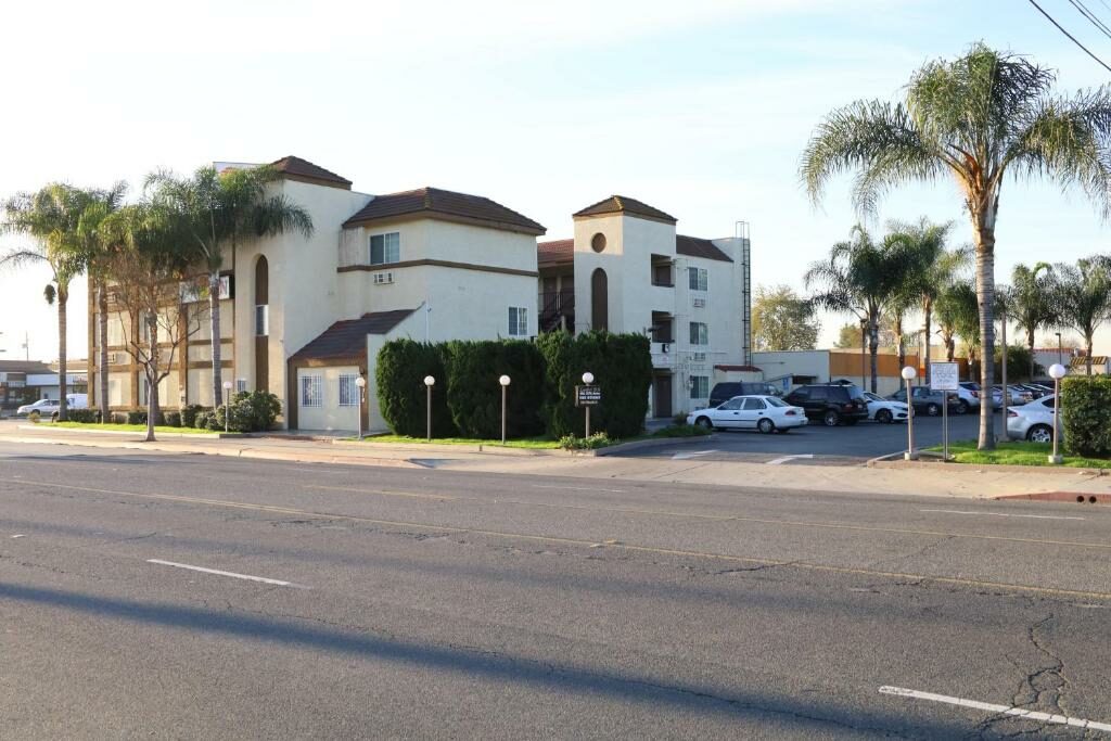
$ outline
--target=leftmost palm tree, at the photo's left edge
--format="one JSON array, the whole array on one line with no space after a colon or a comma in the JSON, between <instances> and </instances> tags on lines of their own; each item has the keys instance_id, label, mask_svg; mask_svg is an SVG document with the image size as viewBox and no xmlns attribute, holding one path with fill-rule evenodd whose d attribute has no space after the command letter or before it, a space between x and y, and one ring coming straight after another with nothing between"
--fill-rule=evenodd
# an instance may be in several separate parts
<instances>
[{"instance_id":1,"label":"leftmost palm tree, at the photo's left edge","mask_svg":"<svg viewBox=\"0 0 1111 741\"><path fill-rule=\"evenodd\" d=\"M19 193L4 203L3 231L33 240L31 249L13 250L0 258L0 267L42 263L50 268L43 296L58 308L58 419L69 417L67 395L67 309L70 283L86 268L86 254L78 239L81 214L89 194L66 183L50 183L33 193Z\"/></svg>"}]
</instances>

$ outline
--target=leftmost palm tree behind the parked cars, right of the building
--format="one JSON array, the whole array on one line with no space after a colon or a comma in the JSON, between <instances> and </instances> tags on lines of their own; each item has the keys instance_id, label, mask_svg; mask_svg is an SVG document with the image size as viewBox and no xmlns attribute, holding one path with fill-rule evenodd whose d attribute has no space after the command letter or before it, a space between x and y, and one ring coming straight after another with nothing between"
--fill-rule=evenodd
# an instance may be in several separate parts
<instances>
[{"instance_id":1,"label":"leftmost palm tree behind the parked cars, right of the building","mask_svg":"<svg viewBox=\"0 0 1111 741\"><path fill-rule=\"evenodd\" d=\"M852 313L867 327L873 393L879 377L880 321L899 300L900 271L909 257L900 240L889 236L877 244L858 224L849 241L834 244L829 259L811 263L803 277L807 289L818 289L810 298L814 306Z\"/></svg>"}]
</instances>

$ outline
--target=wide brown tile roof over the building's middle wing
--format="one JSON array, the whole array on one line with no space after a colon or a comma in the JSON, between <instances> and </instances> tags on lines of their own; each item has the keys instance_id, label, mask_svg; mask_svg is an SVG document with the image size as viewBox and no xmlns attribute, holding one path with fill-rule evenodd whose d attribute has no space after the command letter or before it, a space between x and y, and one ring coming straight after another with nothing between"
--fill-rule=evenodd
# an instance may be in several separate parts
<instances>
[{"instance_id":1,"label":"wide brown tile roof over the building's middle wing","mask_svg":"<svg viewBox=\"0 0 1111 741\"><path fill-rule=\"evenodd\" d=\"M343 226L352 227L376 219L389 219L410 213L456 217L467 221L481 221L498 229L542 234L544 228L532 219L507 209L501 203L481 196L456 193L439 188L420 188L400 193L377 196Z\"/></svg>"}]
</instances>

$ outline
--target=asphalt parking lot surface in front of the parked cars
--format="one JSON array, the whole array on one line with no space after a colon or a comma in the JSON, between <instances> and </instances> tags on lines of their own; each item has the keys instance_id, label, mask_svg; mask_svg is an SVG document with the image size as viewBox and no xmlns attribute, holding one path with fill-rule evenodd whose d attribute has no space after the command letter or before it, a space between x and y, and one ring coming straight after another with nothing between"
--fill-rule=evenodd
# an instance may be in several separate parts
<instances>
[{"instance_id":1,"label":"asphalt parking lot surface in front of the parked cars","mask_svg":"<svg viewBox=\"0 0 1111 741\"><path fill-rule=\"evenodd\" d=\"M998 434L1002 435L1002 415L994 415ZM914 418L914 442L919 448L941 444L942 420L919 414ZM980 430L980 415L952 414L949 439L973 440ZM870 458L907 449L907 425L863 421L853 427L824 427L811 422L787 434L760 434L750 431L717 430L704 445L684 444L650 448L630 452L640 458L675 458L691 460L745 460L780 464L821 463L824 465L859 465Z\"/></svg>"}]
</instances>

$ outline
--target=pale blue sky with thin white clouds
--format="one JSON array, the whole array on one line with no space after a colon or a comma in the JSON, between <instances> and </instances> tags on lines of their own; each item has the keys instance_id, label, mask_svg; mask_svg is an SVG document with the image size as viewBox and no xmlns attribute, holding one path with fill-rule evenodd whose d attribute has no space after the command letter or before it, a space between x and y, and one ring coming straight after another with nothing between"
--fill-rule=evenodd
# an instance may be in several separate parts
<instances>
[{"instance_id":1,"label":"pale blue sky with thin white clouds","mask_svg":"<svg viewBox=\"0 0 1111 741\"><path fill-rule=\"evenodd\" d=\"M1111 78L1025 0L194 0L9 3L0 26L0 197L62 180L138 194L156 169L297 154L369 193L436 186L487 196L570 237L571 213L612 193L727 237L749 223L753 284L802 291L809 263L859 220L847 181L819 208L799 156L829 111L897 99L924 61L970 43L1030 56L1072 91ZM1068 0L1039 0L1111 63ZM1087 0L1111 23L1111 3ZM891 219L954 221L955 189L908 187ZM1008 183L997 279L1015 262L1105 251L1080 193ZM0 251L24 247L0 236ZM0 358L57 357L44 270L0 273ZM87 348L84 283L70 357ZM822 343L844 317L823 318ZM1041 341L1042 338L1040 337ZM1111 329L1097 352L1111 352Z\"/></svg>"}]
</instances>

